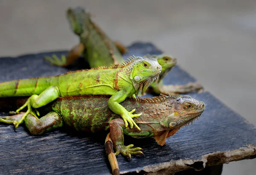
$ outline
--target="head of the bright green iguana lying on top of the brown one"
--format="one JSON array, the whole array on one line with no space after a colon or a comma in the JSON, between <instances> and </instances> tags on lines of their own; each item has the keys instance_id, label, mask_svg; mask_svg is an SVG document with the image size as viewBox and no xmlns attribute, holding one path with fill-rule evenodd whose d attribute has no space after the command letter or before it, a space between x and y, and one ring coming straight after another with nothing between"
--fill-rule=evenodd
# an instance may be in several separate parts
<instances>
[{"instance_id":1,"label":"head of the bright green iguana lying on top of the brown one","mask_svg":"<svg viewBox=\"0 0 256 175\"><path fill-rule=\"evenodd\" d=\"M148 86L157 79L162 67L156 58L129 57L131 59L127 69L134 85L137 96L144 94ZM128 59L129 59L128 58Z\"/></svg>"}]
</instances>

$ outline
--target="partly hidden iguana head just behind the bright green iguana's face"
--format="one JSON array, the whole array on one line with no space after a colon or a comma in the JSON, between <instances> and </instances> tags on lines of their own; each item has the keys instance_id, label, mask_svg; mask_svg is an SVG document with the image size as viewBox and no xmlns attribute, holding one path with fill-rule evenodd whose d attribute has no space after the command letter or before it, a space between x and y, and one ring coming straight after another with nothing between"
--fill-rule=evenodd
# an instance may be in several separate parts
<instances>
[{"instance_id":1,"label":"partly hidden iguana head just behind the bright green iguana's face","mask_svg":"<svg viewBox=\"0 0 256 175\"><path fill-rule=\"evenodd\" d=\"M162 80L168 72L176 65L177 59L168 55L145 55L144 57L156 58L158 63L162 66L162 72L159 74L158 81Z\"/></svg>"}]
</instances>

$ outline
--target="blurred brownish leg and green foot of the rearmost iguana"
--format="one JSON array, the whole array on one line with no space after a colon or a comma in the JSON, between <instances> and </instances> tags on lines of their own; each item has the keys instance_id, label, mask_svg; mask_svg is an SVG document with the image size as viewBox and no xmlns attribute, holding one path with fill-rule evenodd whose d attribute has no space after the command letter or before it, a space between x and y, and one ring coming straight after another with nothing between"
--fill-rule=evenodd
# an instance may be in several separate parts
<instances>
[{"instance_id":1,"label":"blurred brownish leg and green foot of the rearmost iguana","mask_svg":"<svg viewBox=\"0 0 256 175\"><path fill-rule=\"evenodd\" d=\"M74 46L67 56L61 55L61 59L56 55L52 57L45 57L52 65L67 67L72 64L84 51L84 44L80 43L79 45Z\"/></svg>"}]
</instances>

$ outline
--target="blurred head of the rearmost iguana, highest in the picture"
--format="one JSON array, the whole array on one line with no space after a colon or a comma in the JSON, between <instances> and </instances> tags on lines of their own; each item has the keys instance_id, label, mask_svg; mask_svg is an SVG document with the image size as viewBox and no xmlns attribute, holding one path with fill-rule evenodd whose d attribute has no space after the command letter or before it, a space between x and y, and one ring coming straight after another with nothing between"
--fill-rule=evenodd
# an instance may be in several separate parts
<instances>
[{"instance_id":1,"label":"blurred head of the rearmost iguana, highest in the picture","mask_svg":"<svg viewBox=\"0 0 256 175\"><path fill-rule=\"evenodd\" d=\"M67 10L67 20L73 32L81 35L87 31L87 24L90 23L90 14L86 13L84 9L77 7L75 9Z\"/></svg>"}]
</instances>

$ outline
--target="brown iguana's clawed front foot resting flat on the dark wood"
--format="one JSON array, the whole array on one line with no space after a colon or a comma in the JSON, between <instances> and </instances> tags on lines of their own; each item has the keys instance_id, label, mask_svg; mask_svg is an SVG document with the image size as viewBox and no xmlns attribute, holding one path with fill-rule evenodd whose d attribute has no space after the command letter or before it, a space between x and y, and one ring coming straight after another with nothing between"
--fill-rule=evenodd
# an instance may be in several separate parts
<instances>
[{"instance_id":1,"label":"brown iguana's clawed front foot resting flat on the dark wood","mask_svg":"<svg viewBox=\"0 0 256 175\"><path fill-rule=\"evenodd\" d=\"M115 155L119 155L119 153L121 153L122 155L124 156L127 156L130 161L131 161L131 155L143 155L143 149L140 148L140 147L137 147L137 148L132 148L134 145L131 144L131 145L128 145L128 146L125 146L125 145L119 145L117 150L116 150L116 153Z\"/></svg>"}]
</instances>

